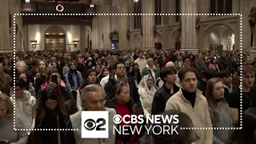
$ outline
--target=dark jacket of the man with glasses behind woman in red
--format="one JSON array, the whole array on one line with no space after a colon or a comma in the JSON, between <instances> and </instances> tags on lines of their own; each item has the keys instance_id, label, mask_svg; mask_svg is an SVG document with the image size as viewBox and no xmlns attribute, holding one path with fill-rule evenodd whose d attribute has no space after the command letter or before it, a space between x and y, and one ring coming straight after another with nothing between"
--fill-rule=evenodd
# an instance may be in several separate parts
<instances>
[{"instance_id":1,"label":"dark jacket of the man with glasses behind woman in red","mask_svg":"<svg viewBox=\"0 0 256 144\"><path fill-rule=\"evenodd\" d=\"M138 106L138 114L144 114L142 108L142 102L140 101L140 96L138 94L138 89L135 85L135 82L132 78L127 76L127 81L130 88L130 98L134 100L136 105ZM106 91L106 100L110 100L114 98L114 86L118 84L118 82L114 78L114 74L110 75L109 82L106 83L105 91Z\"/></svg>"}]
</instances>

